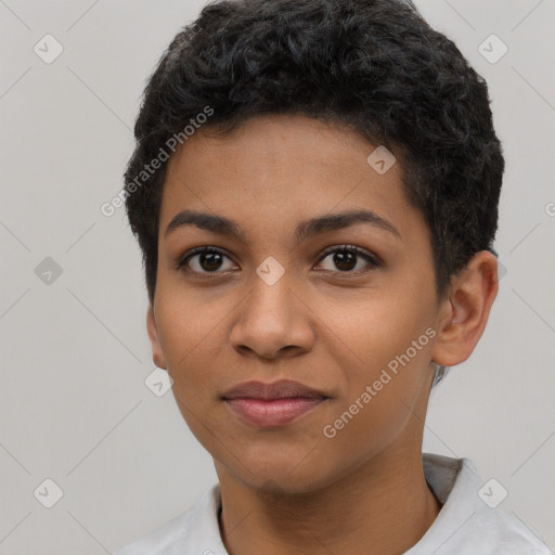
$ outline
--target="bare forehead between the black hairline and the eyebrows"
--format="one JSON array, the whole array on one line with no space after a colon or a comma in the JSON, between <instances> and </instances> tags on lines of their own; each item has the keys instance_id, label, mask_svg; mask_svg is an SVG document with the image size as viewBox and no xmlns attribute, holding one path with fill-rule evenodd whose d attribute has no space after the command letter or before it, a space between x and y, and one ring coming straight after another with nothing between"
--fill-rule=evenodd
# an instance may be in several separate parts
<instances>
[{"instance_id":1,"label":"bare forehead between the black hairline and the eyebrows","mask_svg":"<svg viewBox=\"0 0 555 555\"><path fill-rule=\"evenodd\" d=\"M160 228L184 209L288 228L364 207L399 219L411 209L401 164L382 147L377 156L390 167L376 171L378 146L301 115L255 117L225 135L199 129L168 163Z\"/></svg>"}]
</instances>

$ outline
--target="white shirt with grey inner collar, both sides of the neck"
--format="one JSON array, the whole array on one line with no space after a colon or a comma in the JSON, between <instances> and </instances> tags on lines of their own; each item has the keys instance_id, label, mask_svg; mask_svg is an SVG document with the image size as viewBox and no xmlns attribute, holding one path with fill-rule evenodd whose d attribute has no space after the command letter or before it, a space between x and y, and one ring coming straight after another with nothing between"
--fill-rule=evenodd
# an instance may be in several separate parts
<instances>
[{"instance_id":1,"label":"white shirt with grey inner collar, both sides of the neck","mask_svg":"<svg viewBox=\"0 0 555 555\"><path fill-rule=\"evenodd\" d=\"M423 464L426 481L442 507L404 555L553 555L534 530L490 506L503 499L503 487L494 481L485 485L468 459L424 453ZM218 528L220 504L216 485L192 511L114 555L229 555Z\"/></svg>"}]
</instances>

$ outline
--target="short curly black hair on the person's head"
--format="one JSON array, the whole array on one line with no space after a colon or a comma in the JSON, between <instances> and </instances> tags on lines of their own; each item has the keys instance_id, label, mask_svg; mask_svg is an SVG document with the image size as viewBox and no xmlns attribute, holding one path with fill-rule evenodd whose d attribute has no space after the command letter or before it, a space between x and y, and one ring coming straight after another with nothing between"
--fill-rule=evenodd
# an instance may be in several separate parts
<instances>
[{"instance_id":1,"label":"short curly black hair on the person's head","mask_svg":"<svg viewBox=\"0 0 555 555\"><path fill-rule=\"evenodd\" d=\"M171 138L183 143L199 121L227 133L262 114L347 126L396 155L430 230L438 296L492 250L504 158L488 87L411 1L220 0L173 38L134 126L126 208L152 304Z\"/></svg>"}]
</instances>

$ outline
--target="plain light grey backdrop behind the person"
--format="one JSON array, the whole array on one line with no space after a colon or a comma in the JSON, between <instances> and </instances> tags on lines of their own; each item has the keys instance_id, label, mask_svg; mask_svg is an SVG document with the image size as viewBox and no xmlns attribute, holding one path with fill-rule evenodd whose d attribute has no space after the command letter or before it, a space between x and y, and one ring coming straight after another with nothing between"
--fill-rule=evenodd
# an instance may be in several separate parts
<instances>
[{"instance_id":1,"label":"plain light grey backdrop behind the person","mask_svg":"<svg viewBox=\"0 0 555 555\"><path fill-rule=\"evenodd\" d=\"M507 163L506 274L474 356L434 393L425 450L474 460L553 548L555 1L417 4L486 77ZM0 554L112 553L216 481L171 391L144 383L140 253L124 209L100 211L145 79L202 5L0 0ZM47 34L64 49L51 64L34 51ZM491 34L508 47L494 64L478 51Z\"/></svg>"}]
</instances>

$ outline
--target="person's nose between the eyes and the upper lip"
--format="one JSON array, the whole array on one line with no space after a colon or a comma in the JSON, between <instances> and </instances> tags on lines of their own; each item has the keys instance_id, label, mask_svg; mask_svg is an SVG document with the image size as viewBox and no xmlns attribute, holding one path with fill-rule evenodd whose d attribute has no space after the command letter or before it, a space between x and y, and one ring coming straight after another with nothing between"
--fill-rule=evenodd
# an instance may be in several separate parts
<instances>
[{"instance_id":1,"label":"person's nose between the eyes and the upper lip","mask_svg":"<svg viewBox=\"0 0 555 555\"><path fill-rule=\"evenodd\" d=\"M275 359L312 349L313 312L286 276L287 272L270 285L254 275L231 333L232 346L241 354Z\"/></svg>"}]
</instances>

